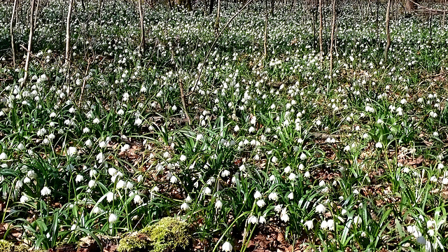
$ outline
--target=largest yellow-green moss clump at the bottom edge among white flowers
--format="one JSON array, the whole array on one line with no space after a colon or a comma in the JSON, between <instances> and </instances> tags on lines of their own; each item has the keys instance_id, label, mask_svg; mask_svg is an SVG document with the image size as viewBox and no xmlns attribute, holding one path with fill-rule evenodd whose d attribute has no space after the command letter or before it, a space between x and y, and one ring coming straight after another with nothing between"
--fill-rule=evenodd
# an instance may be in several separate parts
<instances>
[{"instance_id":1,"label":"largest yellow-green moss clump at the bottom edge among white flowers","mask_svg":"<svg viewBox=\"0 0 448 252\"><path fill-rule=\"evenodd\" d=\"M120 240L117 251L135 252L146 249L152 252L175 251L187 248L191 235L188 224L176 218L162 218L158 223L134 232Z\"/></svg>"}]
</instances>

